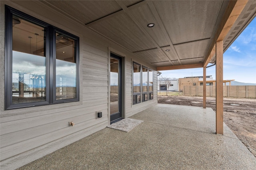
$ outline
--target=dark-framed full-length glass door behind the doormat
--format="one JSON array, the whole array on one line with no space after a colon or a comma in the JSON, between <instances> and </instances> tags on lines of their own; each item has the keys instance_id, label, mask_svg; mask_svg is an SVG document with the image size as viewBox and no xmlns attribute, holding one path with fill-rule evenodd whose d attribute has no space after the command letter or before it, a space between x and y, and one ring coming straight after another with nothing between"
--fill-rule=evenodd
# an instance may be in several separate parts
<instances>
[{"instance_id":1,"label":"dark-framed full-length glass door behind the doormat","mask_svg":"<svg viewBox=\"0 0 256 170\"><path fill-rule=\"evenodd\" d=\"M110 124L122 120L122 58L110 53Z\"/></svg>"}]
</instances>

